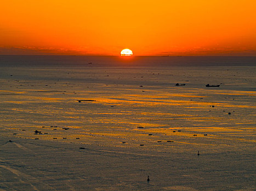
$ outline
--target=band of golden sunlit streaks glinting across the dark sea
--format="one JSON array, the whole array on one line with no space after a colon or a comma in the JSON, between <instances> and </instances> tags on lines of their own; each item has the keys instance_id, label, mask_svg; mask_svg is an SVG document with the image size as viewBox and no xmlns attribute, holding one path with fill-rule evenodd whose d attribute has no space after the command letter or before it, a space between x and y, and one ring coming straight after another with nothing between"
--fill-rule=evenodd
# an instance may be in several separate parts
<instances>
[{"instance_id":1,"label":"band of golden sunlit streaks glinting across the dark sea","mask_svg":"<svg viewBox=\"0 0 256 191\"><path fill-rule=\"evenodd\" d=\"M184 79L179 70L168 71L180 75L172 79L169 75L147 77L147 70L136 73L127 69L130 73L122 75L118 70L111 76L112 81L107 81L108 86L107 69L95 69L95 73L94 69L88 73L70 69L72 77L78 76L77 81L72 81L67 71L62 70L58 75L66 75L56 79L53 76L57 70L54 74L45 72L48 86L42 81L34 87L14 82L18 86L14 91L9 83L2 81L1 123L5 135L165 152L197 148L221 152L243 144L251 148L254 144L255 92L192 88L190 81L185 87L177 88L168 81ZM85 75L90 76L83 79ZM131 76L136 76L136 80L130 80ZM58 82L61 77L65 81ZM31 83L25 80L22 83L25 82ZM95 102L78 103L78 100ZM35 130L42 134L35 134Z\"/></svg>"}]
</instances>

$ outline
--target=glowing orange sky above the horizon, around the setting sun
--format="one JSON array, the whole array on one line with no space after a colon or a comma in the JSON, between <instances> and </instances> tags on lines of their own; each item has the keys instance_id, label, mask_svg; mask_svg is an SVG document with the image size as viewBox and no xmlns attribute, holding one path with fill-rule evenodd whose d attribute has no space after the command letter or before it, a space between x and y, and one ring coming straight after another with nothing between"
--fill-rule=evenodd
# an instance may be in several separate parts
<instances>
[{"instance_id":1,"label":"glowing orange sky above the horizon, around the setting sun","mask_svg":"<svg viewBox=\"0 0 256 191\"><path fill-rule=\"evenodd\" d=\"M256 56L255 0L8 0L0 54Z\"/></svg>"}]
</instances>

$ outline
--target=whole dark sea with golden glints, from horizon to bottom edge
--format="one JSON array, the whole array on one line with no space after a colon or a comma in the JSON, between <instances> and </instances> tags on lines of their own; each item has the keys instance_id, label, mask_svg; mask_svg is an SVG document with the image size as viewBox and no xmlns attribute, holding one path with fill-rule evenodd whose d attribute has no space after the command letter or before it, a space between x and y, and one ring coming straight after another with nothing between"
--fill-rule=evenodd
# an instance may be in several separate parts
<instances>
[{"instance_id":1,"label":"whole dark sea with golden glints, from horizon to bottom edge","mask_svg":"<svg viewBox=\"0 0 256 191\"><path fill-rule=\"evenodd\" d=\"M0 168L44 174L22 180L29 190L253 190L255 62L0 56ZM49 166L69 181L56 186Z\"/></svg>"}]
</instances>

